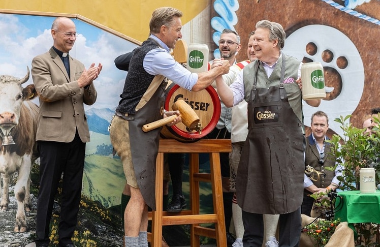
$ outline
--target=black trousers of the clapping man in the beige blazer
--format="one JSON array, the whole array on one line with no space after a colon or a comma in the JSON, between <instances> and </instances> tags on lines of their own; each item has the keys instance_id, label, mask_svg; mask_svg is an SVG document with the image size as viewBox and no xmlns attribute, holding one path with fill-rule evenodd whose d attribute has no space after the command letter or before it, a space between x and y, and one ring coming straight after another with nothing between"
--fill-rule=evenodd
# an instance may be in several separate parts
<instances>
[{"instance_id":1,"label":"black trousers of the clapping man in the beige blazer","mask_svg":"<svg viewBox=\"0 0 380 247\"><path fill-rule=\"evenodd\" d=\"M62 172L59 244L71 243L77 224L82 190L86 144L78 133L72 142L38 141L40 148L40 189L37 201L36 246L49 244L49 223Z\"/></svg>"}]
</instances>

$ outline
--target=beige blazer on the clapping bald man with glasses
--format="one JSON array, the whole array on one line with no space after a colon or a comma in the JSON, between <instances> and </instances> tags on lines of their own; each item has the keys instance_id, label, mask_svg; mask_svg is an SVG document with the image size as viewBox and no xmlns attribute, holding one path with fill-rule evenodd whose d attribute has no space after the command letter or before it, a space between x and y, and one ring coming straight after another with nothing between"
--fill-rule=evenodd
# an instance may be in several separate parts
<instances>
[{"instance_id":1,"label":"beige blazer on the clapping bald man with glasses","mask_svg":"<svg viewBox=\"0 0 380 247\"><path fill-rule=\"evenodd\" d=\"M84 66L71 56L69 59L70 78L53 48L31 62L31 76L40 99L38 141L70 142L76 130L83 142L90 141L83 104L92 105L97 91L93 83L87 89L79 88L77 80Z\"/></svg>"}]
</instances>

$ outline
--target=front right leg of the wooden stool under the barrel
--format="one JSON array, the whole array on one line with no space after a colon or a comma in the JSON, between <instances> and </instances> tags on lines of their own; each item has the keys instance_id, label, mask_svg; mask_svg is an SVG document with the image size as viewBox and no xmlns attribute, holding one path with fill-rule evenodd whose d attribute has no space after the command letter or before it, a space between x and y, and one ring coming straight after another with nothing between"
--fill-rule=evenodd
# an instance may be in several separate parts
<instances>
[{"instance_id":1,"label":"front right leg of the wooden stool under the barrel","mask_svg":"<svg viewBox=\"0 0 380 247\"><path fill-rule=\"evenodd\" d=\"M212 186L212 201L214 204L214 213L217 215L216 243L217 246L227 246L226 225L224 219L223 207L223 188L221 186L220 158L218 152L210 153L210 171Z\"/></svg>"}]
</instances>

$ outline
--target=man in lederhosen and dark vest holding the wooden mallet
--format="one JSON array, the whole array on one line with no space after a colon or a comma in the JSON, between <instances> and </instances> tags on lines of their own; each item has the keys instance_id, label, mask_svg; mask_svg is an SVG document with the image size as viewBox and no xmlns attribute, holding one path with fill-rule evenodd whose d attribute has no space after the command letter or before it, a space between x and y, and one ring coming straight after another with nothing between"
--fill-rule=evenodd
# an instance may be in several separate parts
<instances>
[{"instance_id":1,"label":"man in lederhosen and dark vest holding the wooden mallet","mask_svg":"<svg viewBox=\"0 0 380 247\"><path fill-rule=\"evenodd\" d=\"M121 100L110 126L110 139L123 164L131 198L124 211L126 246L148 246L148 206L155 210L155 161L161 128L143 132L142 126L178 114L167 112L165 77L187 90L199 91L217 76L228 73L228 61L202 73L191 73L170 55L181 34L182 12L162 7L152 13L150 36L135 49L125 78ZM177 124L176 117L170 125Z\"/></svg>"}]
</instances>

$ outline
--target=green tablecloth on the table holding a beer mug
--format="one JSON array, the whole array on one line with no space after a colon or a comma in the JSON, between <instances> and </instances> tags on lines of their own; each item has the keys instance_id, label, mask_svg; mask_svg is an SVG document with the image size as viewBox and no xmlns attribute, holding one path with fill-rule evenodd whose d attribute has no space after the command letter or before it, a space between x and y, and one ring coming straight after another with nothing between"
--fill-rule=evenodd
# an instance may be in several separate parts
<instances>
[{"instance_id":1,"label":"green tablecloth on the table holding a beer mug","mask_svg":"<svg viewBox=\"0 0 380 247\"><path fill-rule=\"evenodd\" d=\"M338 193L335 201L335 219L353 223L380 224L380 191L360 194L360 191L343 191Z\"/></svg>"}]
</instances>

